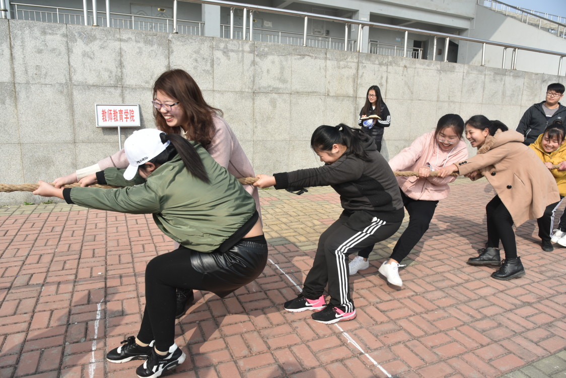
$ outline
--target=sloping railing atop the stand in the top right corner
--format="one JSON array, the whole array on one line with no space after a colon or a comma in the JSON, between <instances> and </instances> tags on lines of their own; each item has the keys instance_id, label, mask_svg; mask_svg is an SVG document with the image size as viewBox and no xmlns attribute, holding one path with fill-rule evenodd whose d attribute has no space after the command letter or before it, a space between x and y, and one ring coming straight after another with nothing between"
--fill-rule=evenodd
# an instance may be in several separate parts
<instances>
[{"instance_id":1,"label":"sloping railing atop the stand in the top right corner","mask_svg":"<svg viewBox=\"0 0 566 378\"><path fill-rule=\"evenodd\" d=\"M478 5L489 8L493 11L504 13L506 16L524 22L528 25L547 31L555 36L564 39L566 35L566 18L562 16L547 14L543 12L526 10L502 3L498 0L478 0ZM553 20L556 18L556 21Z\"/></svg>"}]
</instances>

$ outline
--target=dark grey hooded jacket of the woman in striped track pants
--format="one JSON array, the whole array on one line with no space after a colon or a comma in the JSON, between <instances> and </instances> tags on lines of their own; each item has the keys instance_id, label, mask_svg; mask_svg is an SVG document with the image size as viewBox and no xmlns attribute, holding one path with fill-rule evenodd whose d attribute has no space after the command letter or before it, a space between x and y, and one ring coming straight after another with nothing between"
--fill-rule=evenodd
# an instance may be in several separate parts
<instances>
[{"instance_id":1,"label":"dark grey hooded jacket of the woman in striped track pants","mask_svg":"<svg viewBox=\"0 0 566 378\"><path fill-rule=\"evenodd\" d=\"M361 133L370 161L359 159L346 150L340 159L318 168L276 173L276 189L288 186L330 185L338 194L345 210L389 212L403 208L399 185L387 160L377 151L375 142ZM391 222L395 219L385 219ZM402 212L401 212L402 219Z\"/></svg>"}]
</instances>

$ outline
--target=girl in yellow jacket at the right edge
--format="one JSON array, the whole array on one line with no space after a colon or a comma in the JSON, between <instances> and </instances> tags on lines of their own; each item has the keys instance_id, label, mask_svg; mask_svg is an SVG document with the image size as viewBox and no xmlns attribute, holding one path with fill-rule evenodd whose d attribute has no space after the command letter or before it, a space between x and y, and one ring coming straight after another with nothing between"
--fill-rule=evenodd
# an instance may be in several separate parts
<instances>
[{"instance_id":1,"label":"girl in yellow jacket at the right edge","mask_svg":"<svg viewBox=\"0 0 566 378\"><path fill-rule=\"evenodd\" d=\"M560 200L566 196L566 171L552 169L552 164L560 164L566 160L565 134L566 129L564 129L562 121L556 120L529 146L537 156L541 158L544 165L550 169L550 173L552 173L556 184L558 184ZM558 207L558 205L556 207ZM566 211L560 217L558 228L554 230L554 233L551 233L550 230L552 230L554 211L556 209L550 210L551 209L547 209L543 216L537 219L538 236L542 239L542 249L546 252L554 250L552 243L558 243L566 247Z\"/></svg>"}]
</instances>

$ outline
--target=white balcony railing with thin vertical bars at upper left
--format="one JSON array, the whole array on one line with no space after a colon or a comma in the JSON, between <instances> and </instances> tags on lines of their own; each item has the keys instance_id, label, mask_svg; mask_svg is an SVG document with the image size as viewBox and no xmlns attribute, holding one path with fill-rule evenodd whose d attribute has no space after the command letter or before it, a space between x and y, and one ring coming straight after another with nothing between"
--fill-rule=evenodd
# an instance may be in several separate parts
<instances>
[{"instance_id":1,"label":"white balcony railing with thin vertical bars at upper left","mask_svg":"<svg viewBox=\"0 0 566 378\"><path fill-rule=\"evenodd\" d=\"M84 25L84 11L76 8L52 7L30 5L23 3L11 3L14 6L14 18L16 20L31 20L39 22L50 22L58 24ZM172 18L157 18L144 15L132 15L125 13L110 12L110 25L106 12L97 11L96 23L93 20L92 11L87 12L87 23L89 25L100 25L119 29L135 29L156 32L173 32ZM202 35L203 22L191 20L177 20L177 32L188 35Z\"/></svg>"}]
</instances>

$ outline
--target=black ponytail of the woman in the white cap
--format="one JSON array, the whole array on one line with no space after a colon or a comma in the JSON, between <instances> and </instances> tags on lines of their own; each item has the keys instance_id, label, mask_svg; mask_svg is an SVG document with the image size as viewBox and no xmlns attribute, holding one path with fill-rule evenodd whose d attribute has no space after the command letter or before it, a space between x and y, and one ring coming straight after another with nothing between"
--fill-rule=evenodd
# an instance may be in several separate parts
<instances>
[{"instance_id":1,"label":"black ponytail of the woman in the white cap","mask_svg":"<svg viewBox=\"0 0 566 378\"><path fill-rule=\"evenodd\" d=\"M161 133L159 137L161 138L161 143L165 143L167 141L170 141L171 143L169 143L169 146L167 146L161 154L149 160L147 163L153 163L156 165L165 164L178 154L181 157L181 160L183 160L183 163L185 163L187 171L190 172L191 175L207 184L210 183L207 171L204 169L204 164L200 159L199 153L196 152L195 147L192 146L187 139L178 134L165 133ZM140 165L139 168L145 170L145 164Z\"/></svg>"}]
</instances>

